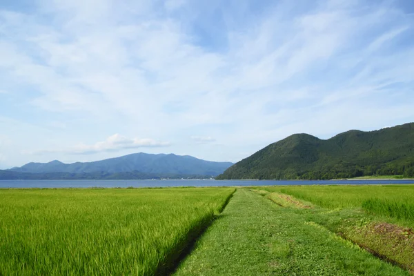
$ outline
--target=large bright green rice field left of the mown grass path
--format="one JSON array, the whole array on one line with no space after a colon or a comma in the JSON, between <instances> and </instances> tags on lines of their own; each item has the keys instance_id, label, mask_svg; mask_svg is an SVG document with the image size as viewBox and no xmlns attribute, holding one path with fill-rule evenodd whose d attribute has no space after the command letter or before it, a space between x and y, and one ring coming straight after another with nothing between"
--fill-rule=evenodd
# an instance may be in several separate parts
<instances>
[{"instance_id":1,"label":"large bright green rice field left of the mown grass path","mask_svg":"<svg viewBox=\"0 0 414 276\"><path fill-rule=\"evenodd\" d=\"M233 188L0 190L0 275L153 275Z\"/></svg>"}]
</instances>

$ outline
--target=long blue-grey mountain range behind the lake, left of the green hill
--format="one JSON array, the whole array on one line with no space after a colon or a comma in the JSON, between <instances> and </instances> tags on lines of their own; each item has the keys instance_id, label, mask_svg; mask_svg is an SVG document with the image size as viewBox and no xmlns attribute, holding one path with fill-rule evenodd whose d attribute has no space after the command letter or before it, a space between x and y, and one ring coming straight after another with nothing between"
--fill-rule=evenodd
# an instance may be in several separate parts
<instances>
[{"instance_id":1,"label":"long blue-grey mountain range behind the lake, left of the green hill","mask_svg":"<svg viewBox=\"0 0 414 276\"><path fill-rule=\"evenodd\" d=\"M0 170L0 179L151 179L215 177L233 165L188 155L143 152L93 162L64 164L28 163L20 168Z\"/></svg>"}]
</instances>

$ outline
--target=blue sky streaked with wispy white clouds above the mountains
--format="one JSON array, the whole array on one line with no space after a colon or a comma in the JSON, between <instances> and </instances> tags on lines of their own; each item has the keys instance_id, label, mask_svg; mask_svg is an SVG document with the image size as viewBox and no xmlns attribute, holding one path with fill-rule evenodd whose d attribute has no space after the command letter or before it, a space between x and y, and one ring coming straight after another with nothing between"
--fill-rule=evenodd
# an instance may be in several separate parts
<instances>
[{"instance_id":1,"label":"blue sky streaked with wispy white clouds above the mountains","mask_svg":"<svg viewBox=\"0 0 414 276\"><path fill-rule=\"evenodd\" d=\"M0 1L0 169L412 121L412 0Z\"/></svg>"}]
</instances>

